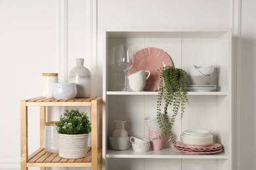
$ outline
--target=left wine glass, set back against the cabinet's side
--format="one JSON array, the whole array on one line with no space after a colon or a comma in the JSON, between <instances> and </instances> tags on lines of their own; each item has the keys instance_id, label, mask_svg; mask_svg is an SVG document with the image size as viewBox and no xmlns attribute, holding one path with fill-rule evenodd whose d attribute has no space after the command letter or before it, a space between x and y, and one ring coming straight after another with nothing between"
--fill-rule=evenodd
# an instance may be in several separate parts
<instances>
[{"instance_id":1,"label":"left wine glass, set back against the cabinet's side","mask_svg":"<svg viewBox=\"0 0 256 170\"><path fill-rule=\"evenodd\" d=\"M114 91L118 91L117 88L117 75L118 72L121 70L119 65L118 65L118 54L117 54L117 47L116 46L112 46L110 48L110 59L109 59L109 65L112 68L112 70L115 72L115 88Z\"/></svg>"}]
</instances>

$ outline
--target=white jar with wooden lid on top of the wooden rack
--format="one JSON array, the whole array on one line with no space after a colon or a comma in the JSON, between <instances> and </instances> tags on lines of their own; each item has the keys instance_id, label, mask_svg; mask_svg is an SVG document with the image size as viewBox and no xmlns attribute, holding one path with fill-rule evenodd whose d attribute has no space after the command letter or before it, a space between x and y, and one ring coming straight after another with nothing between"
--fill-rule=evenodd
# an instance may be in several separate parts
<instances>
[{"instance_id":1,"label":"white jar with wooden lid on top of the wooden rack","mask_svg":"<svg viewBox=\"0 0 256 170\"><path fill-rule=\"evenodd\" d=\"M53 97L53 83L58 82L58 73L42 73L43 76L43 97Z\"/></svg>"}]
</instances>

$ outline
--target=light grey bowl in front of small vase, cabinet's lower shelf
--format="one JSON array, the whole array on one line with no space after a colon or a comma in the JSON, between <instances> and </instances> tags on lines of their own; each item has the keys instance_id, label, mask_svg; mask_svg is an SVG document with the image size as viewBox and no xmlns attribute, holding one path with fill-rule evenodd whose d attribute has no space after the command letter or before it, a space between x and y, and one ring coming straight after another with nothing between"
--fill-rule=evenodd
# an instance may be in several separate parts
<instances>
[{"instance_id":1,"label":"light grey bowl in front of small vase, cabinet's lower shelf","mask_svg":"<svg viewBox=\"0 0 256 170\"><path fill-rule=\"evenodd\" d=\"M129 149L131 142L130 137L108 137L110 146L114 150L127 150Z\"/></svg>"}]
</instances>

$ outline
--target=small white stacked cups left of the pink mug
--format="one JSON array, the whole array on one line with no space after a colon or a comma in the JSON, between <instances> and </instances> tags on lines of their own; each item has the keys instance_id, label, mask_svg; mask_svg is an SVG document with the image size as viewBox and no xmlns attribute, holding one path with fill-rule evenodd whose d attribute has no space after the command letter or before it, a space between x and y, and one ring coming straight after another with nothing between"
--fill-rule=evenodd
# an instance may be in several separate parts
<instances>
[{"instance_id":1,"label":"small white stacked cups left of the pink mug","mask_svg":"<svg viewBox=\"0 0 256 170\"><path fill-rule=\"evenodd\" d=\"M130 137L131 146L135 152L148 152L150 148L150 140L140 139L138 137Z\"/></svg>"}]
</instances>

